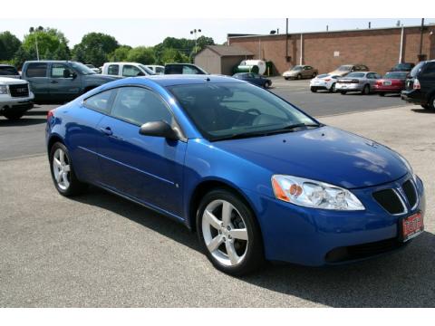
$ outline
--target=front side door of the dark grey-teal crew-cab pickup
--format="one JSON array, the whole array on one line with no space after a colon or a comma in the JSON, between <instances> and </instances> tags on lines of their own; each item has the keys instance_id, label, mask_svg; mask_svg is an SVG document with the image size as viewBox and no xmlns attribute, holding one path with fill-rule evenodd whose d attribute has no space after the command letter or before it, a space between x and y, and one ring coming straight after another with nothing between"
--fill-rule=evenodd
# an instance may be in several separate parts
<instances>
[{"instance_id":1,"label":"front side door of the dark grey-teal crew-cab pickup","mask_svg":"<svg viewBox=\"0 0 435 326\"><path fill-rule=\"evenodd\" d=\"M75 99L81 90L81 79L77 72L65 63L53 62L50 67L50 97L63 102Z\"/></svg>"}]
</instances>

